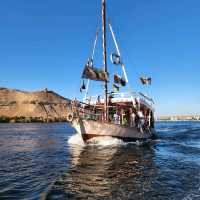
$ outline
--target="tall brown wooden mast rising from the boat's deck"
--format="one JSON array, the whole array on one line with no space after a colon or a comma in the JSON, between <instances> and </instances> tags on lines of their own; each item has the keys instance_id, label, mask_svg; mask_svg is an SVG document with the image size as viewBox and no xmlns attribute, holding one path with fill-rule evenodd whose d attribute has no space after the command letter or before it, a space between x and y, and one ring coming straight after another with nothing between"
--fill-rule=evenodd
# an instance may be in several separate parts
<instances>
[{"instance_id":1,"label":"tall brown wooden mast rising from the boat's deck","mask_svg":"<svg viewBox=\"0 0 200 200\"><path fill-rule=\"evenodd\" d=\"M103 65L104 71L107 73L107 49L106 49L106 0L102 0L102 38L103 38ZM104 112L105 121L108 121L109 111L108 111L108 82L104 83Z\"/></svg>"}]
</instances>

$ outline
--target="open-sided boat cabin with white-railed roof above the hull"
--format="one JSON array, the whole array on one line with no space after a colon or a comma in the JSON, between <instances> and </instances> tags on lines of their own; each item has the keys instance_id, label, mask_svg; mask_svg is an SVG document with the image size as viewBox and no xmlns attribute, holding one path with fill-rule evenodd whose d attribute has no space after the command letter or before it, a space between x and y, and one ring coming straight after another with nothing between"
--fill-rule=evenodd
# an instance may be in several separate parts
<instances>
[{"instance_id":1,"label":"open-sided boat cabin with white-railed roof above the hull","mask_svg":"<svg viewBox=\"0 0 200 200\"><path fill-rule=\"evenodd\" d=\"M153 100L140 93L111 93L108 99L108 122L121 126L154 128ZM72 103L73 113L82 119L105 121L104 98L93 96Z\"/></svg>"}]
</instances>

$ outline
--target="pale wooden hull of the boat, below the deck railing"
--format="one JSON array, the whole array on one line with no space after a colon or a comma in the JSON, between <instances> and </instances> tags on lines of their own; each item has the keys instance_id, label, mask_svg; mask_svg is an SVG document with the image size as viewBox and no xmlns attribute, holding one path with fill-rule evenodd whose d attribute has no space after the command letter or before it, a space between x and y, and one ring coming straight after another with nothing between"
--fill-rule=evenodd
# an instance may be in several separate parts
<instances>
[{"instance_id":1,"label":"pale wooden hull of the boat, below the deck railing","mask_svg":"<svg viewBox=\"0 0 200 200\"><path fill-rule=\"evenodd\" d=\"M82 135L84 141L94 137L110 136L123 141L147 140L154 136L154 129L139 130L137 127L127 127L93 120L74 119L72 126Z\"/></svg>"}]
</instances>

